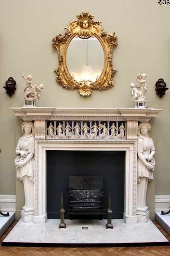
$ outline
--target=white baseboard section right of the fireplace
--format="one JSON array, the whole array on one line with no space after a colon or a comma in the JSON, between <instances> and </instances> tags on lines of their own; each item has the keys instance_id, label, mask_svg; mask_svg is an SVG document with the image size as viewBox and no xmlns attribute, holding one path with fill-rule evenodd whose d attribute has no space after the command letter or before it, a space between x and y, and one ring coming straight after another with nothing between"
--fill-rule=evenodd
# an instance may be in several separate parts
<instances>
[{"instance_id":1,"label":"white baseboard section right of the fireplace","mask_svg":"<svg viewBox=\"0 0 170 256\"><path fill-rule=\"evenodd\" d=\"M155 211L167 212L170 209L170 195L156 195L155 196Z\"/></svg>"}]
</instances>

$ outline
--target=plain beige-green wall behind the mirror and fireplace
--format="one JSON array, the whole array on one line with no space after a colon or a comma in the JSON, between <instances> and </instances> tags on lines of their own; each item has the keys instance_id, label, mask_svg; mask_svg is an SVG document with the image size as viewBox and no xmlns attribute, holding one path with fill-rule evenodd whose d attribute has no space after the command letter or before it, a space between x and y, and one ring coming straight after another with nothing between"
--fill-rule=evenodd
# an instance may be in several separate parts
<instances>
[{"instance_id":1,"label":"plain beige-green wall behind the mirror and fireplace","mask_svg":"<svg viewBox=\"0 0 170 256\"><path fill-rule=\"evenodd\" d=\"M150 108L163 108L151 121L150 136L156 144L156 175L150 182L147 204L154 209L154 195L170 194L170 90L160 99L155 82L163 78L170 84L170 15L169 6L157 0L0 0L1 5L1 65L0 65L0 194L15 194L14 149L21 136L21 120L10 107L23 106L25 76L31 74L34 83L43 83L44 90L37 106L43 107L133 107L130 82L139 72L147 73ZM64 34L64 28L76 15L88 11L95 20L101 20L106 32L115 31L118 47L113 49L115 87L93 91L82 97L78 91L68 91L55 81L57 52L52 51L54 35ZM74 61L73 61L74 65ZM11 98L3 86L8 77L17 81L17 90ZM17 180L17 209L23 204L23 184Z\"/></svg>"}]
</instances>

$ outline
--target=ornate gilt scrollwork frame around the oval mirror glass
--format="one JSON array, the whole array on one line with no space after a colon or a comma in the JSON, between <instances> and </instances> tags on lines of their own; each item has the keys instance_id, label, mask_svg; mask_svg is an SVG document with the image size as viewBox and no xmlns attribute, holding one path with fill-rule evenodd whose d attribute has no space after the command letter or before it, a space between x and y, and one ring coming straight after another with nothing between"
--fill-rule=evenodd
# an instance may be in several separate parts
<instances>
[{"instance_id":1,"label":"ornate gilt scrollwork frame around the oval mirror glass","mask_svg":"<svg viewBox=\"0 0 170 256\"><path fill-rule=\"evenodd\" d=\"M52 40L53 51L57 49L59 65L54 72L57 74L56 81L66 89L78 89L80 95L89 96L92 90L99 89L105 90L114 85L114 74L116 69L112 66L113 47L117 46L117 36L115 33L112 35L102 32L101 21L94 21L93 15L88 15L88 12L82 12L82 15L77 15L78 20L72 20L68 25L68 32L65 35L56 35ZM68 45L74 37L88 39L96 37L102 45L105 62L102 73L96 78L96 81L76 81L74 75L68 71L66 65L66 53Z\"/></svg>"}]
</instances>

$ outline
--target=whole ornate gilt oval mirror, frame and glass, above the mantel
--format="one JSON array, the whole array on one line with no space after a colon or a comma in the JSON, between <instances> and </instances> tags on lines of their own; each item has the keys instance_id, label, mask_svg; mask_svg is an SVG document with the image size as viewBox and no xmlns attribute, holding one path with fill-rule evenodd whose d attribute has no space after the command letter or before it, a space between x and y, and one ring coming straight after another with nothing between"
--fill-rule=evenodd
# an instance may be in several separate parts
<instances>
[{"instance_id":1,"label":"whole ornate gilt oval mirror, frame and glass, above the mantel","mask_svg":"<svg viewBox=\"0 0 170 256\"><path fill-rule=\"evenodd\" d=\"M78 89L80 95L89 96L94 89L105 90L114 85L117 70L112 66L112 55L117 36L102 32L101 22L94 21L88 12L82 12L77 18L65 28L68 32L52 40L59 58L54 72L62 87Z\"/></svg>"}]
</instances>

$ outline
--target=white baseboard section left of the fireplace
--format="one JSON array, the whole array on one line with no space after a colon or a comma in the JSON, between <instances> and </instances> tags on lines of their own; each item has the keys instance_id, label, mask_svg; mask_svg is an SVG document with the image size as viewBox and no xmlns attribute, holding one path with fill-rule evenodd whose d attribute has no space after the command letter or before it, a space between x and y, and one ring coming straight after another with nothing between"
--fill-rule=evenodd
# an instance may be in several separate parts
<instances>
[{"instance_id":1,"label":"white baseboard section left of the fireplace","mask_svg":"<svg viewBox=\"0 0 170 256\"><path fill-rule=\"evenodd\" d=\"M15 212L16 195L0 195L0 209L2 212Z\"/></svg>"}]
</instances>

